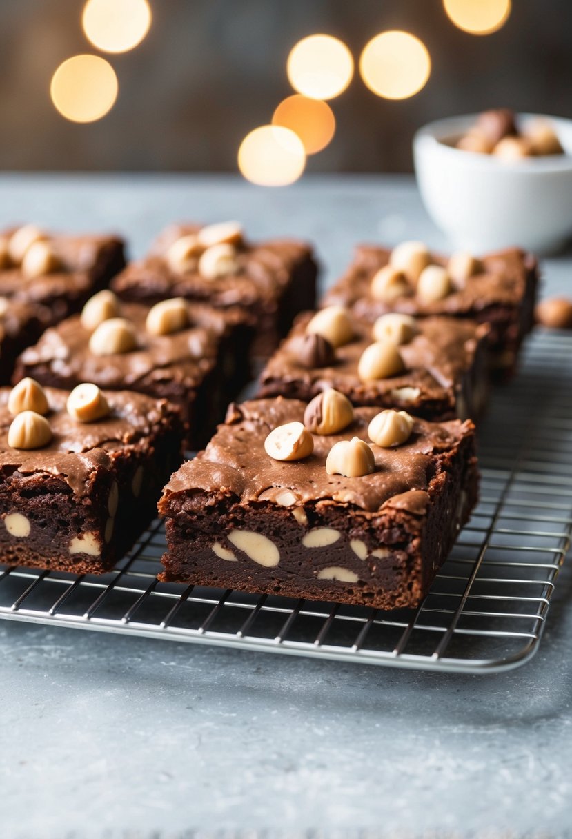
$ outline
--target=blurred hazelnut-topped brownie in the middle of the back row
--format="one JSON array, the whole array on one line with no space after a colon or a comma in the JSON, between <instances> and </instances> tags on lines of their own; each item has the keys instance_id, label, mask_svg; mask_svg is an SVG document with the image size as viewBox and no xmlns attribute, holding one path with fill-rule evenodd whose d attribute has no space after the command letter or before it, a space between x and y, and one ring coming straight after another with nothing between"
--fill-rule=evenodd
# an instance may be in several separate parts
<instances>
[{"instance_id":1,"label":"blurred hazelnut-topped brownie in the middle of the back row","mask_svg":"<svg viewBox=\"0 0 572 839\"><path fill-rule=\"evenodd\" d=\"M294 316L315 305L317 266L307 242L248 242L237 222L177 224L112 283L122 298L156 303L184 297L217 309L238 307L256 328L254 357L267 358Z\"/></svg>"}]
</instances>

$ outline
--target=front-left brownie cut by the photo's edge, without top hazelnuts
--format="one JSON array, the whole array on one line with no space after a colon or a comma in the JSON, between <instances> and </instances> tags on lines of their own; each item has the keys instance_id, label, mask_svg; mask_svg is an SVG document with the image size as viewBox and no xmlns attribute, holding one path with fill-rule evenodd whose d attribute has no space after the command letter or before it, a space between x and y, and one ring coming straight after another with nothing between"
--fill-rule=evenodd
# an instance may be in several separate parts
<instances>
[{"instance_id":1,"label":"front-left brownie cut by the photo's edge, without top hazelnuts","mask_svg":"<svg viewBox=\"0 0 572 839\"><path fill-rule=\"evenodd\" d=\"M109 571L156 515L161 487L180 461L176 409L142 393L107 391L111 413L81 423L66 411L67 391L45 388L53 437L24 451L8 445L9 393L0 389L3 563Z\"/></svg>"}]
</instances>

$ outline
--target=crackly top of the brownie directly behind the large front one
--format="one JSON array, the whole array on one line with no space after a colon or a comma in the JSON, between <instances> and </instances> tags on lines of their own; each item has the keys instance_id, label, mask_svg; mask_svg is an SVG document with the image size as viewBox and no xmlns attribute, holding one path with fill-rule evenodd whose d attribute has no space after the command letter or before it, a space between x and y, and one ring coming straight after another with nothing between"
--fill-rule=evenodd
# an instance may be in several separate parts
<instances>
[{"instance_id":1,"label":"crackly top of the brownie directly behind the large front one","mask_svg":"<svg viewBox=\"0 0 572 839\"><path fill-rule=\"evenodd\" d=\"M471 368L476 347L488 332L486 325L478 325L474 320L419 318L415 321L417 334L398 347L405 367L403 373L362 382L358 376L361 354L377 340L372 334L372 324L351 317L354 336L348 343L336 347L334 362L325 367L308 368L300 351L311 318L311 312L299 315L289 336L265 367L262 385L278 380L303 383L315 391L330 387L361 404L382 394L391 395L399 388L419 389L413 399L415 402L420 399L442 400Z\"/></svg>"}]
</instances>

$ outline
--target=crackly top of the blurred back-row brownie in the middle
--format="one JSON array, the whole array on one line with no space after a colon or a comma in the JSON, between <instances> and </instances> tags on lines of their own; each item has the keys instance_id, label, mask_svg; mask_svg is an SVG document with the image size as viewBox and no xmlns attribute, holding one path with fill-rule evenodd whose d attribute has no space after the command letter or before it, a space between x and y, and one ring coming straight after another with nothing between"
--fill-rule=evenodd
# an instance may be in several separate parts
<instances>
[{"instance_id":1,"label":"crackly top of the blurred back-row brownie in the middle","mask_svg":"<svg viewBox=\"0 0 572 839\"><path fill-rule=\"evenodd\" d=\"M168 227L153 242L148 256L131 263L112 282L112 289L126 300L161 300L186 297L211 300L218 306L248 306L260 300L276 300L289 283L293 269L311 258L306 242L277 239L235 244L236 269L206 278L198 260L185 270L169 263L169 248L178 239L200 232L197 224Z\"/></svg>"}]
</instances>

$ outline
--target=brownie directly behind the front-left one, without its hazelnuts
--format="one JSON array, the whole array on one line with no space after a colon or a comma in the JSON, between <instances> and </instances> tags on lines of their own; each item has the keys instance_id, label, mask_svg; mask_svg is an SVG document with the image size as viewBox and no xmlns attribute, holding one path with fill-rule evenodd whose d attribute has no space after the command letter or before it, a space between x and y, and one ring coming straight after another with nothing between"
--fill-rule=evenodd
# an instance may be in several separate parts
<instances>
[{"instance_id":1,"label":"brownie directly behind the front-left one, without its hazelnuts","mask_svg":"<svg viewBox=\"0 0 572 839\"><path fill-rule=\"evenodd\" d=\"M100 388L136 390L179 406L185 423L185 445L204 446L226 405L247 382L252 329L240 311L189 304L190 324L167 335L146 329L150 307L122 303L120 315L137 336L130 352L96 355L91 331L80 315L62 320L19 357L13 381L25 376L55 388L93 382Z\"/></svg>"}]
</instances>

